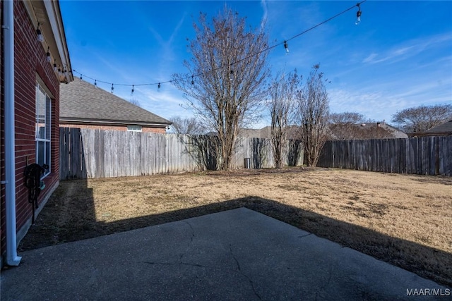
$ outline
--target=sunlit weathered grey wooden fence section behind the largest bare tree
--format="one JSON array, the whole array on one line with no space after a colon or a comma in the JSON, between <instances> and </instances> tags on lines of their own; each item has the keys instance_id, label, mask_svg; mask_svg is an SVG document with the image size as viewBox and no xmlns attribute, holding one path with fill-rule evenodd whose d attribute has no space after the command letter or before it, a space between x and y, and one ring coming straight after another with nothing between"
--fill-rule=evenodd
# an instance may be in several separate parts
<instances>
[{"instance_id":1,"label":"sunlit weathered grey wooden fence section behind the largest bare tree","mask_svg":"<svg viewBox=\"0 0 452 301\"><path fill-rule=\"evenodd\" d=\"M60 178L147 176L214 169L215 136L60 128ZM289 142L288 165L302 164L302 147ZM239 138L232 168L274 166L270 140Z\"/></svg>"}]
</instances>

